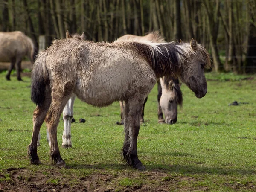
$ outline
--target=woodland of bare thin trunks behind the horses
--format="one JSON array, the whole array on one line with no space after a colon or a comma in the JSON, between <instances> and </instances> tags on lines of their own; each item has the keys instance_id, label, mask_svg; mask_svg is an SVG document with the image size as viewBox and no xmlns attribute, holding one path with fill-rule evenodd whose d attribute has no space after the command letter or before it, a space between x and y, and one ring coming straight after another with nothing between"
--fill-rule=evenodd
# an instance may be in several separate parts
<instances>
[{"instance_id":1,"label":"woodland of bare thin trunks behind the horses","mask_svg":"<svg viewBox=\"0 0 256 192\"><path fill-rule=\"evenodd\" d=\"M256 73L256 0L0 0L0 31L20 30L46 47L65 32L92 41L159 30L166 41L195 38L213 71Z\"/></svg>"}]
</instances>

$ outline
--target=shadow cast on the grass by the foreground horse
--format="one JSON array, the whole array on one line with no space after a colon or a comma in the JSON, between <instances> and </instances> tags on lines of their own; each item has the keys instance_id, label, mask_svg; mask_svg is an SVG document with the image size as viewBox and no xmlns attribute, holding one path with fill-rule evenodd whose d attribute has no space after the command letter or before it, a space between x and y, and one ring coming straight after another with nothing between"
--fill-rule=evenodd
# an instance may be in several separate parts
<instances>
[{"instance_id":1,"label":"shadow cast on the grass by the foreground horse","mask_svg":"<svg viewBox=\"0 0 256 192\"><path fill-rule=\"evenodd\" d=\"M226 169L221 167L193 166L193 165L166 165L166 164L151 164L145 165L146 171L149 172L164 172L170 174L210 174L210 175L255 175L256 169ZM125 164L69 164L67 169L113 169L113 170L135 170L132 166Z\"/></svg>"}]
</instances>

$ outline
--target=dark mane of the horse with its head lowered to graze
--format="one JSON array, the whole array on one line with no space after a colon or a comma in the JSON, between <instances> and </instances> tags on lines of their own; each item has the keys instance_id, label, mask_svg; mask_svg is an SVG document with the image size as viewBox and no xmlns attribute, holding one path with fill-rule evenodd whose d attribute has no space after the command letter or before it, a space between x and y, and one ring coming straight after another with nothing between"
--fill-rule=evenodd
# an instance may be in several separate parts
<instances>
[{"instance_id":1,"label":"dark mane of the horse with its head lowered to graze","mask_svg":"<svg viewBox=\"0 0 256 192\"><path fill-rule=\"evenodd\" d=\"M183 104L183 95L182 91L180 89L180 81L179 79L175 79L172 76L164 76L163 77L164 85L166 86L166 89L168 89L169 82L173 81L174 86L173 86L173 92L174 92L174 98L177 101L177 104L182 107Z\"/></svg>"}]
</instances>

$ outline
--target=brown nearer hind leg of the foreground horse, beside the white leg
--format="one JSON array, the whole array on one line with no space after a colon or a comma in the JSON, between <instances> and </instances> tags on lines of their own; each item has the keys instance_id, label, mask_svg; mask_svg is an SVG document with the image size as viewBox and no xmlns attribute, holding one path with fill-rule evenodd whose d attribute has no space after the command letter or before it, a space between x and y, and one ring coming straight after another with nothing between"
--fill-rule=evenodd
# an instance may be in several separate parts
<instances>
[{"instance_id":1,"label":"brown nearer hind leg of the foreground horse, beside the white leg","mask_svg":"<svg viewBox=\"0 0 256 192\"><path fill-rule=\"evenodd\" d=\"M57 166L65 167L65 161L61 158L60 151L58 148L57 140L57 127L61 112L64 109L68 99L73 92L73 82L67 82L64 86L52 86L52 103L47 112L45 121L47 125L47 130L49 132L50 140L50 156L53 164ZM64 88L63 88L64 87Z\"/></svg>"}]
</instances>

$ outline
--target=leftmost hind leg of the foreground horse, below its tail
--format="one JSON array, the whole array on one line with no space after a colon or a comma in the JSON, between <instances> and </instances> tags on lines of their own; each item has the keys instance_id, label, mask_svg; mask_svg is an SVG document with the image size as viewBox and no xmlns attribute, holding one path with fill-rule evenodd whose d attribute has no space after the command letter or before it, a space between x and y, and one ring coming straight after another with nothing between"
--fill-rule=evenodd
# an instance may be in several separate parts
<instances>
[{"instance_id":1,"label":"leftmost hind leg of the foreground horse, below its tail","mask_svg":"<svg viewBox=\"0 0 256 192\"><path fill-rule=\"evenodd\" d=\"M41 107L37 106L33 113L33 134L32 134L32 140L28 146L28 157L30 158L30 162L32 164L36 164L36 165L41 164L39 157L37 155L37 146L38 146L38 139L39 139L38 136L50 104L51 104L51 95L49 92L47 92L44 100L44 104Z\"/></svg>"}]
</instances>

